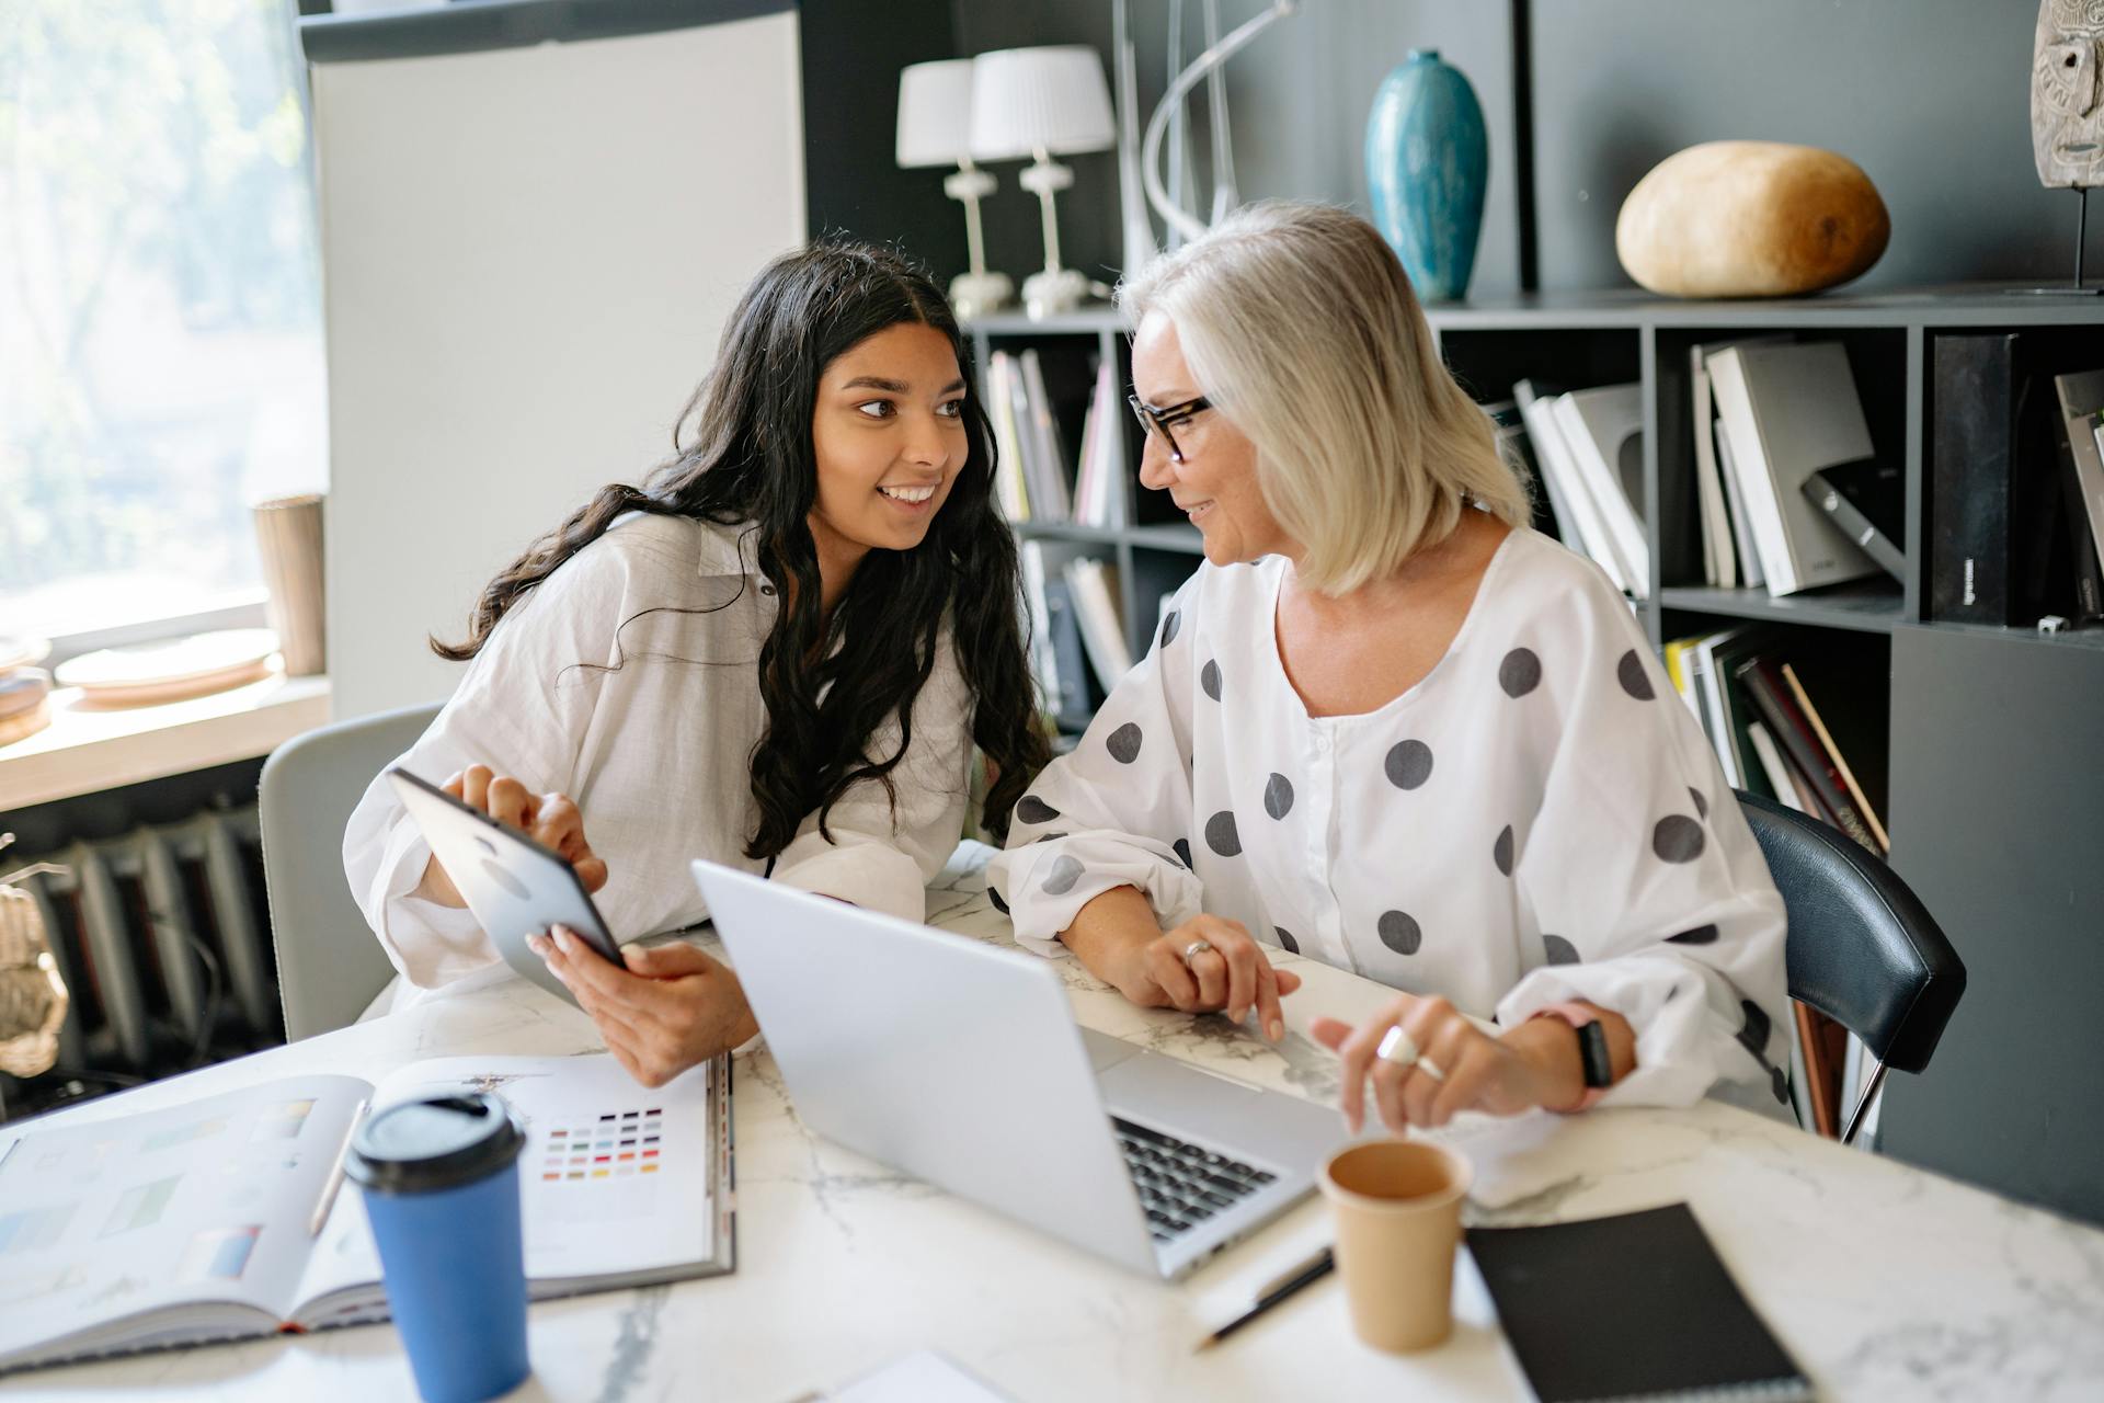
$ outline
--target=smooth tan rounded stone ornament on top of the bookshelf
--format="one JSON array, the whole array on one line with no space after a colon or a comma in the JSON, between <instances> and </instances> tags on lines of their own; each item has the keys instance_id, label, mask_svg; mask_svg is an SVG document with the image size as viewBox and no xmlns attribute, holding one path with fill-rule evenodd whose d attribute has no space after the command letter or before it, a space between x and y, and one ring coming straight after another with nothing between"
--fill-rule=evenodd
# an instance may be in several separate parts
<instances>
[{"instance_id":1,"label":"smooth tan rounded stone ornament on top of the bookshelf","mask_svg":"<svg viewBox=\"0 0 2104 1403\"><path fill-rule=\"evenodd\" d=\"M1658 162L1614 221L1614 252L1664 297L1797 297L1860 278L1891 217L1862 168L1809 145L1706 141Z\"/></svg>"}]
</instances>

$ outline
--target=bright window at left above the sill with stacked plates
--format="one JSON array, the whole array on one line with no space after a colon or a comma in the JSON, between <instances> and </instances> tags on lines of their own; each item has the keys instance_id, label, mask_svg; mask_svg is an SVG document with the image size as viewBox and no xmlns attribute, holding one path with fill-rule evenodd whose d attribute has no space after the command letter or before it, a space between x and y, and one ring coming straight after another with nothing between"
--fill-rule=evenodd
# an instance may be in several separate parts
<instances>
[{"instance_id":1,"label":"bright window at left above the sill with stacked plates","mask_svg":"<svg viewBox=\"0 0 2104 1403\"><path fill-rule=\"evenodd\" d=\"M326 480L292 0L0 6L0 633L252 602Z\"/></svg>"}]
</instances>

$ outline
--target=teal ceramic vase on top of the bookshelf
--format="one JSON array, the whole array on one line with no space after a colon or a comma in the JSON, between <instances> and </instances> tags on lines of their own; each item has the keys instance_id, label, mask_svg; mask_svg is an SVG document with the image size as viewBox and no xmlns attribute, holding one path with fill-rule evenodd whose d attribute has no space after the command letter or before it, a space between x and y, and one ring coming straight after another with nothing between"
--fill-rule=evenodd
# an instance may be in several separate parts
<instances>
[{"instance_id":1,"label":"teal ceramic vase on top of the bookshelf","mask_svg":"<svg viewBox=\"0 0 2104 1403\"><path fill-rule=\"evenodd\" d=\"M1374 95L1365 120L1365 187L1374 225L1424 301L1458 301L1483 231L1490 139L1483 105L1437 48L1412 48Z\"/></svg>"}]
</instances>

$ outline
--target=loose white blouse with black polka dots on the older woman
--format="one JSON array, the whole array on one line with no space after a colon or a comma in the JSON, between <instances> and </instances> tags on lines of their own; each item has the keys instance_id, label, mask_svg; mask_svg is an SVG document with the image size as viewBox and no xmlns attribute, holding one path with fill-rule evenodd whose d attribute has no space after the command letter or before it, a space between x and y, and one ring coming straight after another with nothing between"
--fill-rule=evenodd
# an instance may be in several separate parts
<instances>
[{"instance_id":1,"label":"loose white blouse with black polka dots on the older woman","mask_svg":"<svg viewBox=\"0 0 2104 1403\"><path fill-rule=\"evenodd\" d=\"M1203 566L1081 745L1016 806L991 869L1044 953L1134 886L1511 1026L1622 1014L1607 1102L1717 1079L1784 1096L1782 898L1628 602L1532 530L1498 547L1454 644L1365 715L1311 717L1275 642L1279 557Z\"/></svg>"}]
</instances>

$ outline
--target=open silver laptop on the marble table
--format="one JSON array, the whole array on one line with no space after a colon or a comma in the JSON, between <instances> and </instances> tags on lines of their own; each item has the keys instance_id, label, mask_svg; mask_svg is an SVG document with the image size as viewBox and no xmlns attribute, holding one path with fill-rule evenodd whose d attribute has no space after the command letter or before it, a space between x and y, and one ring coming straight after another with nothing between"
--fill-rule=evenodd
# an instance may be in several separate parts
<instances>
[{"instance_id":1,"label":"open silver laptop on the marble table","mask_svg":"<svg viewBox=\"0 0 2104 1403\"><path fill-rule=\"evenodd\" d=\"M821 1134L1180 1277L1313 1186L1336 1111L1079 1029L1052 961L713 862L694 881Z\"/></svg>"}]
</instances>

